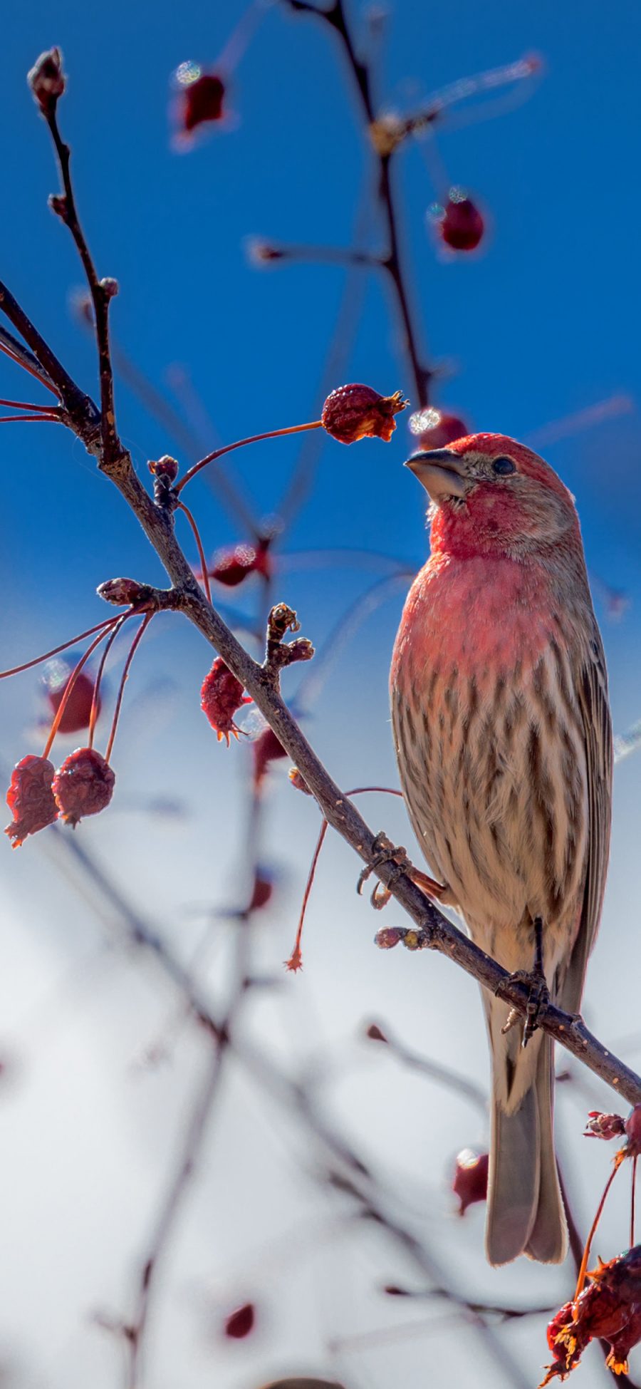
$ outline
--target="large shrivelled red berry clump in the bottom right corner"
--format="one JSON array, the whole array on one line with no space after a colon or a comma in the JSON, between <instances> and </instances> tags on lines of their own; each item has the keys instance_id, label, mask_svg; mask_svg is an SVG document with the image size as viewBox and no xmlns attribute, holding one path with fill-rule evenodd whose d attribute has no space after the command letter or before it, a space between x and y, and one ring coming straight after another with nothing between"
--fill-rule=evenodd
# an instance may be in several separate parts
<instances>
[{"instance_id":1,"label":"large shrivelled red berry clump in the bottom right corner","mask_svg":"<svg viewBox=\"0 0 641 1389\"><path fill-rule=\"evenodd\" d=\"M608 1370L627 1374L627 1356L641 1340L641 1245L588 1272L590 1283L565 1303L548 1325L555 1360L540 1389L554 1378L566 1379L594 1338L609 1342Z\"/></svg>"}]
</instances>

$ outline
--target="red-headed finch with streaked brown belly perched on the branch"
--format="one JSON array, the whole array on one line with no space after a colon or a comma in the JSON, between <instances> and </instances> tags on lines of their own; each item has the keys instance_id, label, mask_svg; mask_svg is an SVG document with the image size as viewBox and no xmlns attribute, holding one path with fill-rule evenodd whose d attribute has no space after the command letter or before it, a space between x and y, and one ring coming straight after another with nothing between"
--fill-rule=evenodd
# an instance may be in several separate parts
<instances>
[{"instance_id":1,"label":"red-headed finch with streaked brown belly perched on the branch","mask_svg":"<svg viewBox=\"0 0 641 1389\"><path fill-rule=\"evenodd\" d=\"M552 468L505 435L408 461L431 554L391 665L409 817L440 900L511 972L540 965L577 1013L608 865L612 729L579 518ZM541 975L542 979L542 975ZM487 1257L559 1263L552 1045L483 995L493 1063Z\"/></svg>"}]
</instances>

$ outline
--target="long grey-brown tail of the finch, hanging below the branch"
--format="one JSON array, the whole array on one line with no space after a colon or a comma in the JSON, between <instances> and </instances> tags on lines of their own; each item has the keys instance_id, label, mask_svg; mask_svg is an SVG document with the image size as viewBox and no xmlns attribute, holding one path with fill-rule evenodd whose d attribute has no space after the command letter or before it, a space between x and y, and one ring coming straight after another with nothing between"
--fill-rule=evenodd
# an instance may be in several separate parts
<instances>
[{"instance_id":1,"label":"long grey-brown tail of the finch, hanging below the branch","mask_svg":"<svg viewBox=\"0 0 641 1389\"><path fill-rule=\"evenodd\" d=\"M522 1026L505 1036L506 1008L487 1000L493 1054L493 1113L486 1250L491 1264L527 1254L559 1264L567 1250L554 1147L552 1042L536 1032L522 1049Z\"/></svg>"}]
</instances>

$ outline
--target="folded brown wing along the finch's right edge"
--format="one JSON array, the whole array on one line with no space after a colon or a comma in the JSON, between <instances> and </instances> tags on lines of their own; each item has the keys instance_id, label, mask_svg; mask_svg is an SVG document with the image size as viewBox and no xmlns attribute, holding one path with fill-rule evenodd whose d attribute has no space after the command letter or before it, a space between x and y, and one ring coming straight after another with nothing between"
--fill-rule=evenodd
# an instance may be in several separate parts
<instances>
[{"instance_id":1,"label":"folded brown wing along the finch's right edge","mask_svg":"<svg viewBox=\"0 0 641 1389\"><path fill-rule=\"evenodd\" d=\"M561 990L561 1004L579 1013L588 954L597 938L610 843L612 724L608 672L597 622L577 672L576 690L583 718L587 764L588 839L581 921Z\"/></svg>"}]
</instances>

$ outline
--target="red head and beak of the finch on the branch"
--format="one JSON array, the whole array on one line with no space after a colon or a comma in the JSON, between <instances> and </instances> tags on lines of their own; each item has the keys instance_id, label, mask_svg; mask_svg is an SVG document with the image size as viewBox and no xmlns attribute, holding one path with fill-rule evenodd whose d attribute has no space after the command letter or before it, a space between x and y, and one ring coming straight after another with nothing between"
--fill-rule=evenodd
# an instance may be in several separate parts
<instances>
[{"instance_id":1,"label":"red head and beak of the finch on the branch","mask_svg":"<svg viewBox=\"0 0 641 1389\"><path fill-rule=\"evenodd\" d=\"M407 467L431 501L433 551L524 558L579 538L567 488L506 435L468 435L412 454Z\"/></svg>"}]
</instances>

